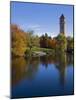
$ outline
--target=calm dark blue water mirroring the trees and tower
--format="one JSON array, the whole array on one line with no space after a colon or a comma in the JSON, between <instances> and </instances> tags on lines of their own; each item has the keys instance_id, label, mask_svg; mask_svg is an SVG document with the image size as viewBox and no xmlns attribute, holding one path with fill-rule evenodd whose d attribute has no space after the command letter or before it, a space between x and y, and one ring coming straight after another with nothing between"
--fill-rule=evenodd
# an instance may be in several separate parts
<instances>
[{"instance_id":1,"label":"calm dark blue water mirroring the trees and tower","mask_svg":"<svg viewBox=\"0 0 76 100\"><path fill-rule=\"evenodd\" d=\"M73 55L12 59L12 98L72 95Z\"/></svg>"}]
</instances>

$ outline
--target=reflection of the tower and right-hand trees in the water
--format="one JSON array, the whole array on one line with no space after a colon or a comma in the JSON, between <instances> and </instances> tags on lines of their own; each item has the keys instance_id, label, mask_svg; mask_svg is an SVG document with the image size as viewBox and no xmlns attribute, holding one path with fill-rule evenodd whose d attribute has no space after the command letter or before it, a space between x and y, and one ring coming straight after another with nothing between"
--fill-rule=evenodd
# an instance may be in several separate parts
<instances>
[{"instance_id":1,"label":"reflection of the tower and right-hand trees in the water","mask_svg":"<svg viewBox=\"0 0 76 100\"><path fill-rule=\"evenodd\" d=\"M73 64L73 55L67 54L65 52L60 52L56 54L56 68L60 73L60 83L65 84L65 70L70 64Z\"/></svg>"}]
</instances>

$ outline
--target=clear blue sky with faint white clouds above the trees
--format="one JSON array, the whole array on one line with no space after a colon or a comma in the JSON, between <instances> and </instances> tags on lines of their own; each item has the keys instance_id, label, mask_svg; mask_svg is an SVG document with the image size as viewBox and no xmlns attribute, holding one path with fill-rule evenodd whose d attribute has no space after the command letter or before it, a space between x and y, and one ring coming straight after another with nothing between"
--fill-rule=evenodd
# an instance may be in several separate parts
<instances>
[{"instance_id":1,"label":"clear blue sky with faint white clouds above the trees","mask_svg":"<svg viewBox=\"0 0 76 100\"><path fill-rule=\"evenodd\" d=\"M34 30L39 36L45 33L57 36L62 14L65 16L65 35L73 36L72 5L11 2L11 24L17 24L24 31Z\"/></svg>"}]
</instances>

